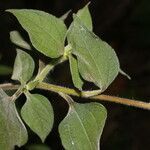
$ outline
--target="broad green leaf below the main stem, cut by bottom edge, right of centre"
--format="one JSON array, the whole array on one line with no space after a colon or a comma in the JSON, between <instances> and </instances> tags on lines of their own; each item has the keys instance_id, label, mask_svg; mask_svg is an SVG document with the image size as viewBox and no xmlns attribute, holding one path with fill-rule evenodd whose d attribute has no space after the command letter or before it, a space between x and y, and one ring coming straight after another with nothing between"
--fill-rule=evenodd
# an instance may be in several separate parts
<instances>
[{"instance_id":1,"label":"broad green leaf below the main stem, cut by bottom edge, right of centre","mask_svg":"<svg viewBox=\"0 0 150 150\"><path fill-rule=\"evenodd\" d=\"M98 150L107 112L99 103L73 103L59 125L66 150Z\"/></svg>"}]
</instances>

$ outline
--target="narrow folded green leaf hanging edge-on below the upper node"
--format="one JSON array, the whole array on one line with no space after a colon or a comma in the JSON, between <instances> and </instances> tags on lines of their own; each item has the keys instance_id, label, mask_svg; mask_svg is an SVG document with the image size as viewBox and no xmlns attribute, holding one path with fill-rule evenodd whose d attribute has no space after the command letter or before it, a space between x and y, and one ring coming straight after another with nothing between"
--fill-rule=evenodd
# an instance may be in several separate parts
<instances>
[{"instance_id":1,"label":"narrow folded green leaf hanging edge-on below the upper node","mask_svg":"<svg viewBox=\"0 0 150 150\"><path fill-rule=\"evenodd\" d=\"M76 88L82 90L83 80L81 79L79 74L78 62L77 59L72 55L69 56L69 64L70 64L70 71L71 71L73 84Z\"/></svg>"}]
</instances>

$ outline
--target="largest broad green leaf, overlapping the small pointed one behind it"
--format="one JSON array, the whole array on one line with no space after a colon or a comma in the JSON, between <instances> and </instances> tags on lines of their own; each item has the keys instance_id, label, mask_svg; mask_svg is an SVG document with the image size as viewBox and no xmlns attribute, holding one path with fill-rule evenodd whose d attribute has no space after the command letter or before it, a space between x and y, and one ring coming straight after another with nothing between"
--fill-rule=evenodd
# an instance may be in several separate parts
<instances>
[{"instance_id":1,"label":"largest broad green leaf, overlapping the small pointed one behind it","mask_svg":"<svg viewBox=\"0 0 150 150\"><path fill-rule=\"evenodd\" d=\"M106 90L120 70L115 51L89 31L78 17L71 25L67 38L72 53L77 56L83 79L95 83L101 92Z\"/></svg>"}]
</instances>

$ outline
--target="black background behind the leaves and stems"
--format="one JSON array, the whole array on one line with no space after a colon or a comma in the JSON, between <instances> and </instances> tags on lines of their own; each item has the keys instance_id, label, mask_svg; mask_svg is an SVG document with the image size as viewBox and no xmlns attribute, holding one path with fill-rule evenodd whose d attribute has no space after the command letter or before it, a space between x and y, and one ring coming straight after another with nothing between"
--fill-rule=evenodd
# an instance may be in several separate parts
<instances>
[{"instance_id":1,"label":"black background behind the leaves and stems","mask_svg":"<svg viewBox=\"0 0 150 150\"><path fill-rule=\"evenodd\" d=\"M4 10L10 8L39 9L60 17L68 10L76 12L88 0L0 0L0 64L13 66L16 55L9 40L9 32L16 28L16 20ZM149 0L92 0L90 11L93 17L94 32L107 41L116 51L121 68L132 80L119 75L106 91L107 94L139 99L150 99L150 1ZM69 24L71 16L66 23ZM40 54L37 54L40 55ZM71 77L66 64L57 67L52 75L62 84L71 85ZM68 72L63 71L67 69ZM60 76L61 74L61 76ZM10 75L0 76L0 83L11 81ZM42 92L42 91L40 91ZM49 93L44 93L49 96ZM66 103L52 94L55 110L55 127L46 140L52 150L63 149L57 128L67 112ZM50 97L50 98L51 98ZM23 97L22 97L23 98ZM57 101L57 104L54 102ZM108 119L101 139L101 150L149 150L150 111L104 103L108 109ZM65 109L65 111L64 111ZM40 143L30 132L31 143Z\"/></svg>"}]
</instances>

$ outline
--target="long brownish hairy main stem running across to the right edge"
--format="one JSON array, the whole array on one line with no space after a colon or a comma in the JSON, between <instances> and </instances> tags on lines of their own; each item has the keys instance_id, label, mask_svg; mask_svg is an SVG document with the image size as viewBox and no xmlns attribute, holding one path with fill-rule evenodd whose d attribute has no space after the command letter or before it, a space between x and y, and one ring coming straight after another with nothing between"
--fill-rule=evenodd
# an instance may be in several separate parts
<instances>
[{"instance_id":1,"label":"long brownish hairy main stem running across to the right edge","mask_svg":"<svg viewBox=\"0 0 150 150\"><path fill-rule=\"evenodd\" d=\"M19 85L13 85L11 83L0 84L0 88L2 88L3 90L15 90L15 89L19 88ZM82 93L80 91L77 91L75 89L70 89L70 88L53 85L53 84L49 84L49 83L44 83L44 82L39 83L36 86L36 88L52 91L55 93L64 93L64 94L73 95L73 96L77 96L77 97L88 98L90 100L113 102L113 103L118 103L118 104L123 104L123 105L127 105L127 106L133 106L133 107L137 107L137 108L150 110L150 103L142 102L142 101L138 101L138 100L131 100L131 99L127 99L127 98L120 98L120 97L104 95L104 94L100 94L100 95L96 95L96 96L92 96L92 97L85 97L84 95L82 95Z\"/></svg>"}]
</instances>

